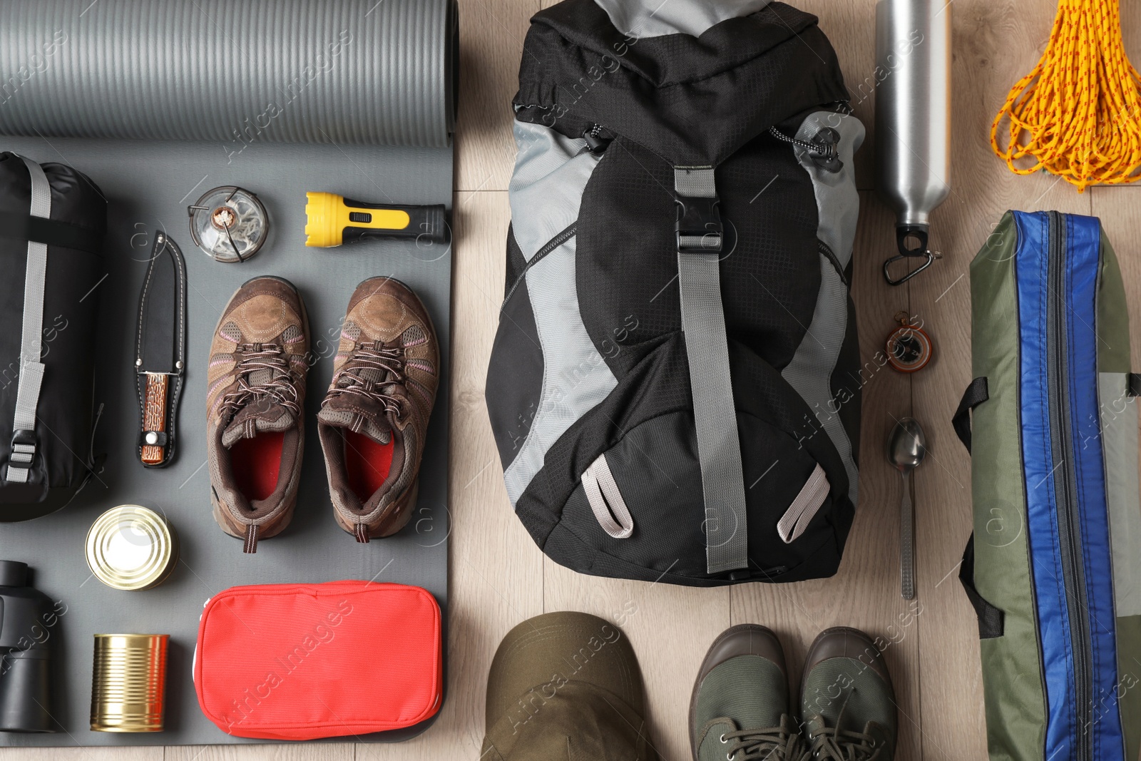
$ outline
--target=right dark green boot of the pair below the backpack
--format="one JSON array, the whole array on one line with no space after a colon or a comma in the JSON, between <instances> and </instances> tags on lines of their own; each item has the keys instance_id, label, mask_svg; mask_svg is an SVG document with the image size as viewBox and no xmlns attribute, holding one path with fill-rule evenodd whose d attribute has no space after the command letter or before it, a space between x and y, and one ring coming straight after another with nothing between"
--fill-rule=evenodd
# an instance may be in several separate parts
<instances>
[{"instance_id":1,"label":"right dark green boot of the pair below the backpack","mask_svg":"<svg viewBox=\"0 0 1141 761\"><path fill-rule=\"evenodd\" d=\"M892 761L896 694L883 654L858 629L816 638L804 658L801 719L816 761Z\"/></svg>"}]
</instances>

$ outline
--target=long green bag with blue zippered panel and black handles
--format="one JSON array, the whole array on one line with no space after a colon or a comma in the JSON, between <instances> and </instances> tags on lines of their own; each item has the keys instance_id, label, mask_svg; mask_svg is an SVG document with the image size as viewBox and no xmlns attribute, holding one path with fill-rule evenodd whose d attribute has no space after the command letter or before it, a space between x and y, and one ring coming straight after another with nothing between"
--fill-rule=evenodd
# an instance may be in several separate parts
<instances>
[{"instance_id":1,"label":"long green bag with blue zippered panel and black handles","mask_svg":"<svg viewBox=\"0 0 1141 761\"><path fill-rule=\"evenodd\" d=\"M1008 212L971 264L971 302L960 577L990 759L1136 761L1141 379L1117 259L1097 218Z\"/></svg>"}]
</instances>

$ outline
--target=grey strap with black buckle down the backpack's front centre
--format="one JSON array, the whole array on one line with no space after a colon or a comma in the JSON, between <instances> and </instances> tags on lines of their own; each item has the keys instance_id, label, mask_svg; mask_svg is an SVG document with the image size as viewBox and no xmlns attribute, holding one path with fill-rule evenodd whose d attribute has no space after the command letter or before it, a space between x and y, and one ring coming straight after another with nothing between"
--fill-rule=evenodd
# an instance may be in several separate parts
<instances>
[{"instance_id":1,"label":"grey strap with black buckle down the backpack's front centre","mask_svg":"<svg viewBox=\"0 0 1141 761\"><path fill-rule=\"evenodd\" d=\"M729 377L729 345L721 306L721 217L712 167L674 167L678 197L678 284L697 458L705 500L709 573L748 565L745 479Z\"/></svg>"}]
</instances>

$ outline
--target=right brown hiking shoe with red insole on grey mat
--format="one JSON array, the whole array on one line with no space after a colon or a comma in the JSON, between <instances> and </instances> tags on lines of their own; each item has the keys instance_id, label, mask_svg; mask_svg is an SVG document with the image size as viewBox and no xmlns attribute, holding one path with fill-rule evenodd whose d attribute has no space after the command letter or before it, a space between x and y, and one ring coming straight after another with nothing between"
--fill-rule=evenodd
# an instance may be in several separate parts
<instances>
[{"instance_id":1,"label":"right brown hiking shoe with red insole on grey mat","mask_svg":"<svg viewBox=\"0 0 1141 761\"><path fill-rule=\"evenodd\" d=\"M357 285L317 435L337 523L358 542L412 516L438 373L436 331L416 294L390 277Z\"/></svg>"}]
</instances>

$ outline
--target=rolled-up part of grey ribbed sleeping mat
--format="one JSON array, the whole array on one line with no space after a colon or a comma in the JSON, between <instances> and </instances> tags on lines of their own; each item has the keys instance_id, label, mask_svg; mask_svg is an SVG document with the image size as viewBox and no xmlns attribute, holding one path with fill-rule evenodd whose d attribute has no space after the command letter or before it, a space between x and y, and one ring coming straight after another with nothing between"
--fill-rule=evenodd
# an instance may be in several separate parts
<instances>
[{"instance_id":1,"label":"rolled-up part of grey ribbed sleeping mat","mask_svg":"<svg viewBox=\"0 0 1141 761\"><path fill-rule=\"evenodd\" d=\"M446 147L454 0L5 0L0 135Z\"/></svg>"}]
</instances>

